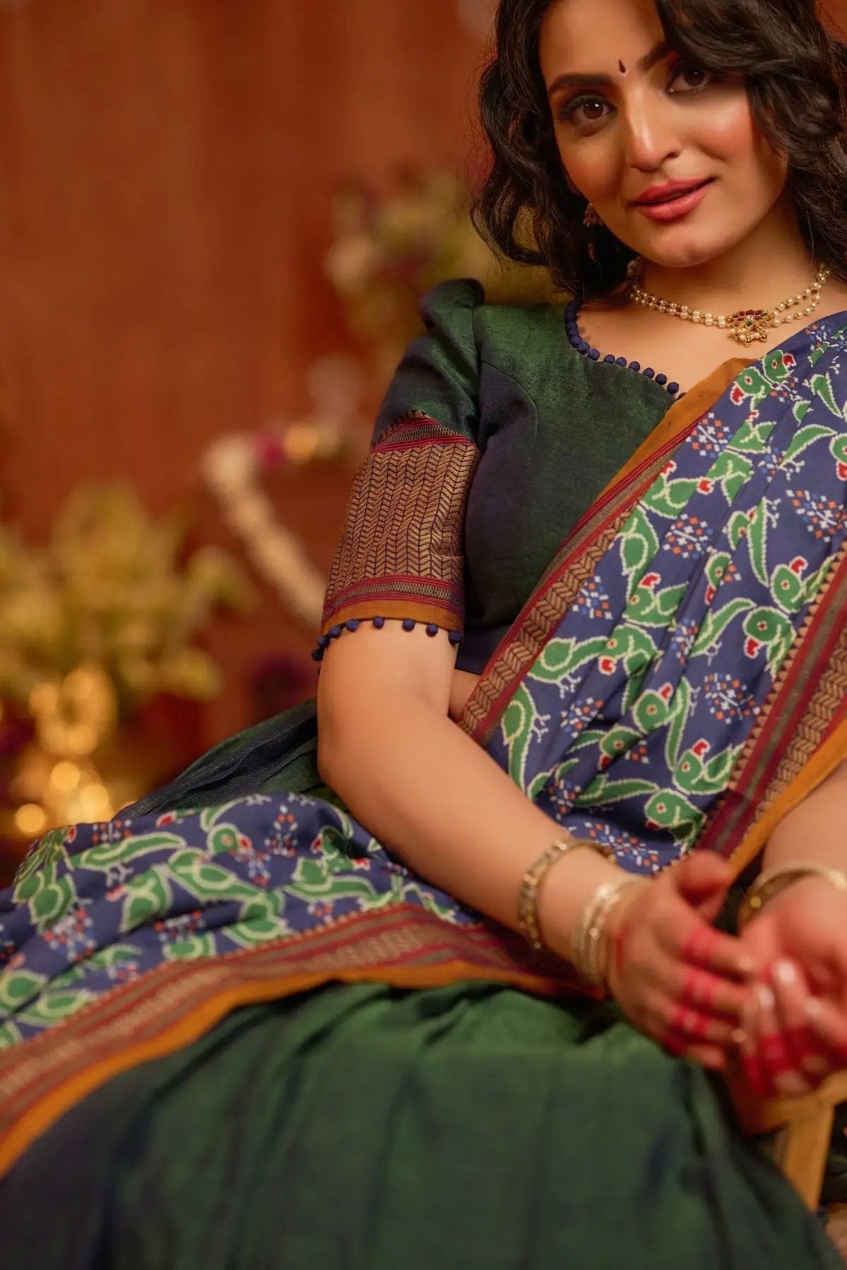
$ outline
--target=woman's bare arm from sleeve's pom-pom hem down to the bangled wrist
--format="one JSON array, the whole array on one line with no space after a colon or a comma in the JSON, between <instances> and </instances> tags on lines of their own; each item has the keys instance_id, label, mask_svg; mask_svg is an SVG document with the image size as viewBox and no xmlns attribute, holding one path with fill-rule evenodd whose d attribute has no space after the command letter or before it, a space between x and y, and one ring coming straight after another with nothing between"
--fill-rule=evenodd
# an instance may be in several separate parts
<instances>
[{"instance_id":1,"label":"woman's bare arm from sleeve's pom-pom hem down to the bangled wrist","mask_svg":"<svg viewBox=\"0 0 847 1270\"><path fill-rule=\"evenodd\" d=\"M516 928L521 879L563 831L448 718L455 658L443 632L399 622L343 635L321 669L319 766L410 867ZM550 871L538 916L556 952L568 956L584 906L620 876L588 851Z\"/></svg>"}]
</instances>

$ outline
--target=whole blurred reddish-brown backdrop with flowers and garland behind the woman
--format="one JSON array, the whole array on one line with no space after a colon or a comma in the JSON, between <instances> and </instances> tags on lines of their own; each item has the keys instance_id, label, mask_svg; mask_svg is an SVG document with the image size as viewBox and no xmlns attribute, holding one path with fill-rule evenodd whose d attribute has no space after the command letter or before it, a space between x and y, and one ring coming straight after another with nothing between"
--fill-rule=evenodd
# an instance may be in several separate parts
<instances>
[{"instance_id":1,"label":"whole blurred reddish-brown backdrop with flowers and garland behind the woman","mask_svg":"<svg viewBox=\"0 0 847 1270\"><path fill-rule=\"evenodd\" d=\"M466 216L493 11L0 0L5 867L314 692L418 296L542 286Z\"/></svg>"}]
</instances>

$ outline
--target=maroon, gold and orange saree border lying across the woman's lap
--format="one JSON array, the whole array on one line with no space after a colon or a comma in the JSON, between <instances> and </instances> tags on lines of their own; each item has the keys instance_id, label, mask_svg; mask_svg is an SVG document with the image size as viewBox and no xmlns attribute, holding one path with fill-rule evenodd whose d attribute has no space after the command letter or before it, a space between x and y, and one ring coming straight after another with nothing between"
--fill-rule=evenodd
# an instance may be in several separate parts
<instances>
[{"instance_id":1,"label":"maroon, gold and orange saree border lying across the woman's lap","mask_svg":"<svg viewBox=\"0 0 847 1270\"><path fill-rule=\"evenodd\" d=\"M566 974L510 931L453 926L411 904L357 913L263 947L168 963L0 1053L0 1175L107 1080L182 1049L239 1006L329 982L436 988L486 979L537 996L585 996Z\"/></svg>"}]
</instances>

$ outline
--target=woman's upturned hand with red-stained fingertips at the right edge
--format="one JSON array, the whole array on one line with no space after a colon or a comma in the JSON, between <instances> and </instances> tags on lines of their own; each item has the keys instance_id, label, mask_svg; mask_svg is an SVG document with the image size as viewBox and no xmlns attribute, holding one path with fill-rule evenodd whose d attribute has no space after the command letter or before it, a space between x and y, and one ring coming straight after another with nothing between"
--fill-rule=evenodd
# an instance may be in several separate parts
<instances>
[{"instance_id":1,"label":"woman's upturned hand with red-stained fingertips at the right edge","mask_svg":"<svg viewBox=\"0 0 847 1270\"><path fill-rule=\"evenodd\" d=\"M806 1093L847 1067L847 894L804 878L742 942L764 968L744 1016L747 1080L759 1097Z\"/></svg>"}]
</instances>

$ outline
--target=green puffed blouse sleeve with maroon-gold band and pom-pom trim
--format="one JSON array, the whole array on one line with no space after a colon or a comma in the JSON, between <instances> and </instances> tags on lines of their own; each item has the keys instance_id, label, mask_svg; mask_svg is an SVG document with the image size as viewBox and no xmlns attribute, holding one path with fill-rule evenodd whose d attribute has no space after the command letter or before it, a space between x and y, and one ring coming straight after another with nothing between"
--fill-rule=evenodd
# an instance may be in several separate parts
<instances>
[{"instance_id":1,"label":"green puffed blouse sleeve with maroon-gold band and pom-pom trim","mask_svg":"<svg viewBox=\"0 0 847 1270\"><path fill-rule=\"evenodd\" d=\"M476 282L443 283L422 304L425 335L391 381L350 494L329 575L317 657L362 621L423 622L461 639L464 525L479 462Z\"/></svg>"}]
</instances>

